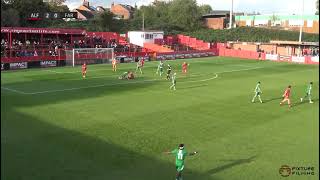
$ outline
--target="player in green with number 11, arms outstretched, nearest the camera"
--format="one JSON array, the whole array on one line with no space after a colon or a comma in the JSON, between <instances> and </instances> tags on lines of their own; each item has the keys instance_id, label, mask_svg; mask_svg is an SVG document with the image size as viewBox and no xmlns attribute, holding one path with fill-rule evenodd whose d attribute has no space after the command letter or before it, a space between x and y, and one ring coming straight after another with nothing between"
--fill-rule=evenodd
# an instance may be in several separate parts
<instances>
[{"instance_id":1,"label":"player in green with number 11, arms outstretched, nearest the camera","mask_svg":"<svg viewBox=\"0 0 320 180\"><path fill-rule=\"evenodd\" d=\"M192 152L188 153L187 150L184 148L184 144L180 144L177 149L174 149L173 151L165 152L167 154L174 154L176 156L176 180L182 180L182 171L184 169L184 160L186 156L193 156L197 154L198 152Z\"/></svg>"}]
</instances>

